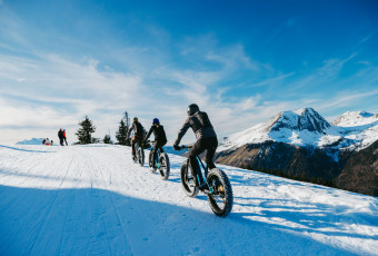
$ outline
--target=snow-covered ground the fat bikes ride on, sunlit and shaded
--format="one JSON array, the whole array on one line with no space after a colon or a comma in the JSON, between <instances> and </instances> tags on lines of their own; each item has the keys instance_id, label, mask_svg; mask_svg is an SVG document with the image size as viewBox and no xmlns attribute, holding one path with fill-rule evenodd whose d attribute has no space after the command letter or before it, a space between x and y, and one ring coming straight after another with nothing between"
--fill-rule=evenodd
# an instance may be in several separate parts
<instances>
[{"instance_id":1,"label":"snow-covered ground the fat bikes ride on, sunlit and shaded","mask_svg":"<svg viewBox=\"0 0 378 256\"><path fill-rule=\"evenodd\" d=\"M146 152L148 155L148 152ZM378 200L220 166L220 218L121 146L1 146L0 255L378 255Z\"/></svg>"}]
</instances>

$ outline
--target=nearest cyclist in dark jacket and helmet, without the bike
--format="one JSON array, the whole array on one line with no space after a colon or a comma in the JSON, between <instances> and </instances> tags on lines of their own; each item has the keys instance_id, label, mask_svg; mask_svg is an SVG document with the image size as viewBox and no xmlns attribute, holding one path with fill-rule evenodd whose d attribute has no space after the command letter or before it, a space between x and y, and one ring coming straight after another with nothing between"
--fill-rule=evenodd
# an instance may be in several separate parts
<instances>
[{"instance_id":1,"label":"nearest cyclist in dark jacket and helmet, without the bike","mask_svg":"<svg viewBox=\"0 0 378 256\"><path fill-rule=\"evenodd\" d=\"M183 122L181 129L179 130L179 134L175 140L173 148L176 150L179 150L179 144L189 129L189 127L192 128L192 130L196 134L197 141L191 148L189 152L189 163L191 167L191 174L193 176L193 181L198 186L198 181L201 181L203 185L203 180L197 180L197 174L200 170L199 164L196 159L198 155L207 150L206 154L206 163L209 169L216 168L216 165L212 161L213 155L216 154L216 149L218 147L218 139L216 131L213 130L213 127L209 120L209 117L206 112L202 112L199 110L199 107L196 104L191 104L188 107L188 118ZM200 187L200 189L205 189L206 185Z\"/></svg>"}]
</instances>

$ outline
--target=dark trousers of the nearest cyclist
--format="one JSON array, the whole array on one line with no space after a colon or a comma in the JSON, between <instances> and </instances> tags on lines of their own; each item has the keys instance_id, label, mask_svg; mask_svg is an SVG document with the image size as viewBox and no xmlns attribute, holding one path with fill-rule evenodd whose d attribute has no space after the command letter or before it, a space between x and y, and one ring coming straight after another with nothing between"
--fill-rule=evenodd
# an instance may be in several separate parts
<instances>
[{"instance_id":1,"label":"dark trousers of the nearest cyclist","mask_svg":"<svg viewBox=\"0 0 378 256\"><path fill-rule=\"evenodd\" d=\"M217 147L218 147L217 137L201 138L196 141L189 154L189 163L191 167L191 174L193 175L193 177L197 178L197 174L199 171L199 164L196 157L203 152L205 150L207 150L206 164L208 165L208 168L209 169L216 168L212 158L213 155L216 154ZM202 183L203 180L200 181Z\"/></svg>"}]
</instances>

